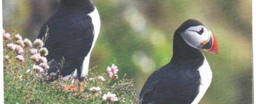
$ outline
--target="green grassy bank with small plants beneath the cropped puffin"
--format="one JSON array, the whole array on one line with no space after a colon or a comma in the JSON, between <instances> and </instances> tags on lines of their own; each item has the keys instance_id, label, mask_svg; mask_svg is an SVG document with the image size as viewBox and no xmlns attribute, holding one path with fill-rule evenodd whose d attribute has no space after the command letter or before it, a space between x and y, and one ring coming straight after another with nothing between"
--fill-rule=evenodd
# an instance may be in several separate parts
<instances>
[{"instance_id":1,"label":"green grassy bank with small plants beneath the cropped puffin","mask_svg":"<svg viewBox=\"0 0 256 104\"><path fill-rule=\"evenodd\" d=\"M112 79L106 72L97 72L97 67L93 67L84 80L84 92L77 96L78 80L74 81L74 88L64 90L65 85L72 84L70 79L60 77L55 82L48 82L50 76L46 73L47 68L43 68L41 72L33 69L36 62L30 59L30 49L39 50L40 47L35 44L32 47L24 45L24 53L20 54L19 49L7 47L9 43L18 44L14 32L10 39L3 41L4 103L138 103L133 80L126 79L125 75L123 79ZM15 58L19 54L24 56L24 61ZM102 81L99 76L105 80ZM93 86L99 86L101 90L94 93L89 90ZM102 99L108 92L116 94L118 101Z\"/></svg>"}]
</instances>

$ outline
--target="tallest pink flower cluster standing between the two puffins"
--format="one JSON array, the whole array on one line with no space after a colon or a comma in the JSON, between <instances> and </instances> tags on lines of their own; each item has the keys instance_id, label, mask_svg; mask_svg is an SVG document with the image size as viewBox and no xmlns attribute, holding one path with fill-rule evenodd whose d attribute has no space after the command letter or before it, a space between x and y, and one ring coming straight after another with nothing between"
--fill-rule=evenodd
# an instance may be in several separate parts
<instances>
[{"instance_id":1,"label":"tallest pink flower cluster standing between the two puffins","mask_svg":"<svg viewBox=\"0 0 256 104\"><path fill-rule=\"evenodd\" d=\"M118 67L115 64L112 64L111 67L107 67L107 76L111 77L112 79L118 79L117 76Z\"/></svg>"}]
</instances>

